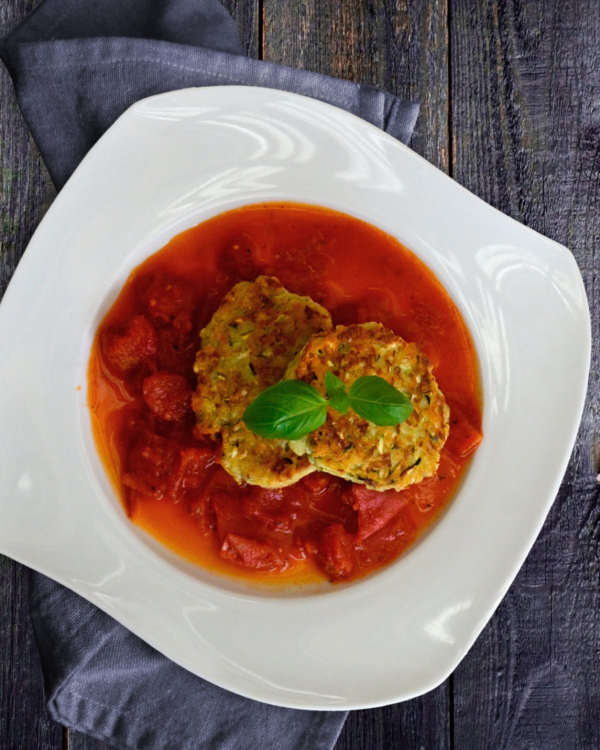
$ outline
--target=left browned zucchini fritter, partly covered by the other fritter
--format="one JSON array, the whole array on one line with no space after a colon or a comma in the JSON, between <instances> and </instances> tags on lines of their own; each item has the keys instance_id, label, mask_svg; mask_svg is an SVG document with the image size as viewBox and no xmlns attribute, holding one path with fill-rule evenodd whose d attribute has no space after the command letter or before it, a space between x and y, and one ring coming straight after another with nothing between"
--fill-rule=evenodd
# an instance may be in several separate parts
<instances>
[{"instance_id":1,"label":"left browned zucchini fritter, partly covered by the other fritter","mask_svg":"<svg viewBox=\"0 0 600 750\"><path fill-rule=\"evenodd\" d=\"M197 428L213 439L221 436L221 463L237 481L284 487L314 471L287 443L264 440L241 419L260 392L281 380L311 335L331 328L329 312L310 297L259 276L236 284L200 332L192 397Z\"/></svg>"}]
</instances>

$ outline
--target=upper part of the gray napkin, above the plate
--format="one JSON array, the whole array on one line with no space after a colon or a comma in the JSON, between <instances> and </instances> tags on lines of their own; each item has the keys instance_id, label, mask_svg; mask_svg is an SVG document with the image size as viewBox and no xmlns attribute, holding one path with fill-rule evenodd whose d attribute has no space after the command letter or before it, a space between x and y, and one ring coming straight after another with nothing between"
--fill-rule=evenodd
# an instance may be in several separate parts
<instances>
[{"instance_id":1,"label":"upper part of the gray napkin, above the plate","mask_svg":"<svg viewBox=\"0 0 600 750\"><path fill-rule=\"evenodd\" d=\"M402 142L419 105L373 86L244 57L217 0L46 0L0 43L60 189L131 104L189 86L264 86L341 107Z\"/></svg>"}]
</instances>

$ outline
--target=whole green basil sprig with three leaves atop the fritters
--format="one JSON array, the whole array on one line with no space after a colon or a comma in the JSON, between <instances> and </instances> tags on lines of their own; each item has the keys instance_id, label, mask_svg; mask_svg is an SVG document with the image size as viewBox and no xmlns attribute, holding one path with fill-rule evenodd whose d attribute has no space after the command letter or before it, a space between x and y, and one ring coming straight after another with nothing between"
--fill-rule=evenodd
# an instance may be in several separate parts
<instances>
[{"instance_id":1,"label":"whole green basil sprig with three leaves atop the fritters","mask_svg":"<svg viewBox=\"0 0 600 750\"><path fill-rule=\"evenodd\" d=\"M242 421L260 437L300 440L323 425L328 405L341 414L350 406L378 427L399 425L413 413L410 398L378 375L359 377L347 390L337 376L326 372L325 389L329 401L304 380L281 380L254 399Z\"/></svg>"}]
</instances>

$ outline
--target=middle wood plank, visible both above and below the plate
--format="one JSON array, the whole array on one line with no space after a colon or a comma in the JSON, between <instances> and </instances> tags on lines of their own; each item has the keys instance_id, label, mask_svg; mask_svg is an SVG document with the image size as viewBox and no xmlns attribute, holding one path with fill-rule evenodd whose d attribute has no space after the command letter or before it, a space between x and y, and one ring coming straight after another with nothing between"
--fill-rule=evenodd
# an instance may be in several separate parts
<instances>
[{"instance_id":1,"label":"middle wood plank, visible both above and below the plate","mask_svg":"<svg viewBox=\"0 0 600 750\"><path fill-rule=\"evenodd\" d=\"M264 59L421 101L411 145L448 169L446 1L265 0L264 7ZM337 747L449 747L449 682L398 706L350 713Z\"/></svg>"}]
</instances>

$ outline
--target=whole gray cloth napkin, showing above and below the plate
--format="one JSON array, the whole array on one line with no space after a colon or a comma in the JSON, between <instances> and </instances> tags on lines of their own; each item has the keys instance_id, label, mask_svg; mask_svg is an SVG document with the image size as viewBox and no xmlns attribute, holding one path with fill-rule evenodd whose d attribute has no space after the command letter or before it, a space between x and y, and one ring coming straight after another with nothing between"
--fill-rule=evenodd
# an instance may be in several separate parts
<instances>
[{"instance_id":1,"label":"whole gray cloth napkin, showing above and below the plate","mask_svg":"<svg viewBox=\"0 0 600 750\"><path fill-rule=\"evenodd\" d=\"M46 0L1 40L0 58L58 189L127 107L174 89L296 92L403 142L419 110L371 86L245 58L217 0ZM111 745L325 750L344 724L345 712L277 708L217 688L37 573L30 613L52 717Z\"/></svg>"}]
</instances>

